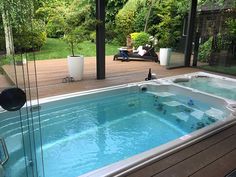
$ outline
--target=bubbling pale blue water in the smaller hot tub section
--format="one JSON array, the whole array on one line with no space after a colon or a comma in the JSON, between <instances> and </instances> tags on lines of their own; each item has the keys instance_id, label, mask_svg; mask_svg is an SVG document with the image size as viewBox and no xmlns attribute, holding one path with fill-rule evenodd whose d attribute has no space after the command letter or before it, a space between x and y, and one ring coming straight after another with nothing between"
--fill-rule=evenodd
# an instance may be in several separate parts
<instances>
[{"instance_id":1,"label":"bubbling pale blue water in the smaller hot tub section","mask_svg":"<svg viewBox=\"0 0 236 177\"><path fill-rule=\"evenodd\" d=\"M235 82L211 77L199 77L191 78L189 82L178 82L178 84L198 89L200 91L214 94L223 98L236 100Z\"/></svg>"}]
</instances>

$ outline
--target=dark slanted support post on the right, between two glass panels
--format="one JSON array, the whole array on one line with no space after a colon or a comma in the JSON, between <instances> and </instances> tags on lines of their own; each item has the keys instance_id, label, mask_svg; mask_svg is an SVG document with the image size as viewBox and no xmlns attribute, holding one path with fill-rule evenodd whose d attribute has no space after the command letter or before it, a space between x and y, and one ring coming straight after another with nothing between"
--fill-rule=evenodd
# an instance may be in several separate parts
<instances>
[{"instance_id":1,"label":"dark slanted support post on the right, between two glass panels","mask_svg":"<svg viewBox=\"0 0 236 177\"><path fill-rule=\"evenodd\" d=\"M193 36L194 36L194 24L197 14L197 0L192 0L191 8L188 16L188 29L187 29L187 39L185 45L185 66L190 66L190 60L192 55L193 47Z\"/></svg>"}]
</instances>

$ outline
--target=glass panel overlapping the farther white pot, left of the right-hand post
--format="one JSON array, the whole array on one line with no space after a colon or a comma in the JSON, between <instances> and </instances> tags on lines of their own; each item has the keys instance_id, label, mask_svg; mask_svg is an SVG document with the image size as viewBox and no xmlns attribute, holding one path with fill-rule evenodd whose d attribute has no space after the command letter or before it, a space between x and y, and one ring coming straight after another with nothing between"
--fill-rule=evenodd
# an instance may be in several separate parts
<instances>
[{"instance_id":1,"label":"glass panel overlapping the farther white pot, left of the right-hand post","mask_svg":"<svg viewBox=\"0 0 236 177\"><path fill-rule=\"evenodd\" d=\"M160 49L160 64L162 65L162 60L164 60L164 63L166 63L166 68L169 69L185 65L184 53L187 39L186 33L188 26L188 12L190 8L190 1L179 1L175 2L174 4L176 8L172 10L173 12L170 12L171 22L169 25L171 27L169 31L166 31L168 35L166 35L165 32L162 32L162 35L166 37L160 36L165 44L162 45L162 47L170 48L168 51ZM166 19L166 21L168 20ZM162 31L165 31L165 29L162 28Z\"/></svg>"}]
</instances>

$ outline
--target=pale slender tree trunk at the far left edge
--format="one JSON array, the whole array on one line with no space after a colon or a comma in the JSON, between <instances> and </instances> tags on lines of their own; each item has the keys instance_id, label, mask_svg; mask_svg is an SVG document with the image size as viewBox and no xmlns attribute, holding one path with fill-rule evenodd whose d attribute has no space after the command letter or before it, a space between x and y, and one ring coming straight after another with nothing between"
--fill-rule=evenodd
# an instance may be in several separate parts
<instances>
[{"instance_id":1,"label":"pale slender tree trunk at the far left edge","mask_svg":"<svg viewBox=\"0 0 236 177\"><path fill-rule=\"evenodd\" d=\"M7 11L3 10L2 12L2 21L5 33L5 42L6 42L6 54L12 55L14 54L14 42L13 42L13 34L12 27L9 22Z\"/></svg>"}]
</instances>

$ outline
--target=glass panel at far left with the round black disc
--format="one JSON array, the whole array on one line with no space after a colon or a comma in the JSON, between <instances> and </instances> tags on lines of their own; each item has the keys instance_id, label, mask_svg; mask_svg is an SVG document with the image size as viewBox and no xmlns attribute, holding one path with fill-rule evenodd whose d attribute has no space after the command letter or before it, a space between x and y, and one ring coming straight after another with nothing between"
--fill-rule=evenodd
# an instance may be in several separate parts
<instances>
[{"instance_id":1,"label":"glass panel at far left with the round black disc","mask_svg":"<svg viewBox=\"0 0 236 177\"><path fill-rule=\"evenodd\" d=\"M37 49L33 29L31 1L0 3L0 92L21 88L27 103L19 111L0 107L0 138L6 142L9 160L3 164L6 177L43 177L41 127L34 52ZM37 114L36 114L37 113ZM2 154L2 150L1 150Z\"/></svg>"}]
</instances>

